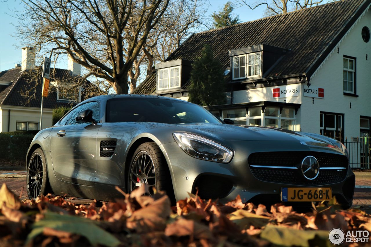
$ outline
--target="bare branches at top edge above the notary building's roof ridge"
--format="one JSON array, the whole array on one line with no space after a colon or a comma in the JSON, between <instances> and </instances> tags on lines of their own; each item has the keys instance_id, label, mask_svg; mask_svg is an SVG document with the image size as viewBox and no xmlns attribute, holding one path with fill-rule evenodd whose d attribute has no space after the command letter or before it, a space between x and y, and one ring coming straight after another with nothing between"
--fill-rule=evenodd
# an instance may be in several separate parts
<instances>
[{"instance_id":1,"label":"bare branches at top edge above the notary building's roof ridge","mask_svg":"<svg viewBox=\"0 0 371 247\"><path fill-rule=\"evenodd\" d=\"M321 4L324 0L258 0L250 3L250 0L239 0L238 5L256 9L261 5L266 6L264 16L288 13L299 9L306 9Z\"/></svg>"}]
</instances>

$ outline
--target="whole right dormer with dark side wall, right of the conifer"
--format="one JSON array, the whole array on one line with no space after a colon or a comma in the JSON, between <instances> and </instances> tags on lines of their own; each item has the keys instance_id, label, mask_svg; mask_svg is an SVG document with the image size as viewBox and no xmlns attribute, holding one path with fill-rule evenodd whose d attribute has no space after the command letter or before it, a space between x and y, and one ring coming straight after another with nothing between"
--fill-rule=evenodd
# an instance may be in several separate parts
<instances>
[{"instance_id":1,"label":"whole right dormer with dark side wall, right of the conifer","mask_svg":"<svg viewBox=\"0 0 371 247\"><path fill-rule=\"evenodd\" d=\"M262 78L264 73L288 51L288 49L264 44L229 50L232 79Z\"/></svg>"}]
</instances>

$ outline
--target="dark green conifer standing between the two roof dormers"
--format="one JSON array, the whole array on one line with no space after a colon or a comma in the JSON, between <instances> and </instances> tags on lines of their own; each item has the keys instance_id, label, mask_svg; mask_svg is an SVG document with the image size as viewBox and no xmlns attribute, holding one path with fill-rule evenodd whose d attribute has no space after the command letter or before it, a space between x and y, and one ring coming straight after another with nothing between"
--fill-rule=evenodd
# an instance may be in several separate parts
<instances>
[{"instance_id":1,"label":"dark green conifer standing between the two roof dormers","mask_svg":"<svg viewBox=\"0 0 371 247\"><path fill-rule=\"evenodd\" d=\"M188 87L188 101L202 106L226 103L223 66L214 58L209 45L204 45L191 71L191 84Z\"/></svg>"}]
</instances>

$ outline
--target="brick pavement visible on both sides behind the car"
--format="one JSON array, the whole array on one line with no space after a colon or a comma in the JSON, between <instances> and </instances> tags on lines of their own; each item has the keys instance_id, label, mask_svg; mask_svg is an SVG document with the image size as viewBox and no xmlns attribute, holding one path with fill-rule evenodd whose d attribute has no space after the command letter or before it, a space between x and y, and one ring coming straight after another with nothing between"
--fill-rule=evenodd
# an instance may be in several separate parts
<instances>
[{"instance_id":1,"label":"brick pavement visible on both sides behind the car","mask_svg":"<svg viewBox=\"0 0 371 247\"><path fill-rule=\"evenodd\" d=\"M4 182L16 195L20 195L21 199L27 199L25 171L0 171L0 187ZM357 177L355 185L353 206L371 206L371 180Z\"/></svg>"}]
</instances>

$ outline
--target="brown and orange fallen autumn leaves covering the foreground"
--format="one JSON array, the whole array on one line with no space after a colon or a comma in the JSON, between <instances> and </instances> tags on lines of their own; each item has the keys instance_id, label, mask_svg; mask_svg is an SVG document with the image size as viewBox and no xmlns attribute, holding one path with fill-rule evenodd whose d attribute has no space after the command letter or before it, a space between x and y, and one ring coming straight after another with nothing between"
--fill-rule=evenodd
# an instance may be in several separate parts
<instances>
[{"instance_id":1,"label":"brown and orange fallen autumn leaves covering the foreground","mask_svg":"<svg viewBox=\"0 0 371 247\"><path fill-rule=\"evenodd\" d=\"M0 246L331 246L332 228L371 231L370 215L334 202L299 214L281 204L268 211L240 197L219 205L191 194L171 207L164 193L144 192L122 192L124 198L97 207L53 195L20 201L4 184Z\"/></svg>"}]
</instances>

